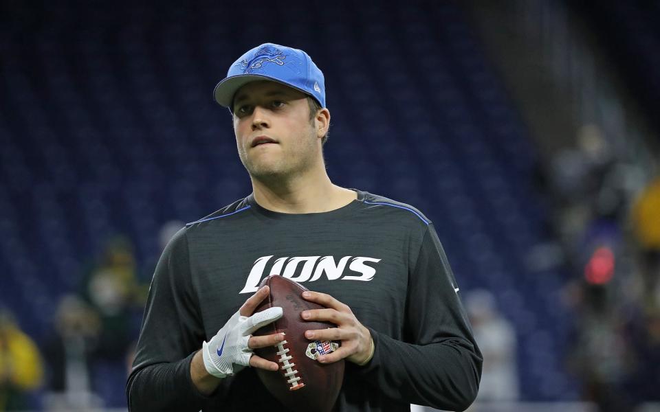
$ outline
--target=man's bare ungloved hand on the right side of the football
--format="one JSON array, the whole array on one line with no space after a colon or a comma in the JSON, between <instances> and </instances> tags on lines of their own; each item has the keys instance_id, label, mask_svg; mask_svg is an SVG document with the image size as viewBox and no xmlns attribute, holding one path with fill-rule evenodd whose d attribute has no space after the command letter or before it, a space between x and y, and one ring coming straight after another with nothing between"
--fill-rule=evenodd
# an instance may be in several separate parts
<instances>
[{"instance_id":1,"label":"man's bare ungloved hand on the right side of the football","mask_svg":"<svg viewBox=\"0 0 660 412\"><path fill-rule=\"evenodd\" d=\"M314 341L342 341L338 350L320 356L320 363L333 363L343 358L358 365L371 361L374 350L371 332L358 321L349 306L325 293L303 292L303 298L326 307L301 312L303 319L337 325L326 330L307 330L305 337Z\"/></svg>"}]
</instances>

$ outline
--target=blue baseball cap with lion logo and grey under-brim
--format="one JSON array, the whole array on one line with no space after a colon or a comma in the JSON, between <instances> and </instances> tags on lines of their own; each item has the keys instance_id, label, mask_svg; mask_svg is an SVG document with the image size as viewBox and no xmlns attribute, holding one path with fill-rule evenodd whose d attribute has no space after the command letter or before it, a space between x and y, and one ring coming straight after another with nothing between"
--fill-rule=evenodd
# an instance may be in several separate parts
<instances>
[{"instance_id":1,"label":"blue baseball cap with lion logo and grey under-brim","mask_svg":"<svg viewBox=\"0 0 660 412\"><path fill-rule=\"evenodd\" d=\"M325 107L325 79L322 71L303 50L264 43L239 57L227 77L213 91L215 101L232 110L234 95L245 84L272 80L314 98Z\"/></svg>"}]
</instances>

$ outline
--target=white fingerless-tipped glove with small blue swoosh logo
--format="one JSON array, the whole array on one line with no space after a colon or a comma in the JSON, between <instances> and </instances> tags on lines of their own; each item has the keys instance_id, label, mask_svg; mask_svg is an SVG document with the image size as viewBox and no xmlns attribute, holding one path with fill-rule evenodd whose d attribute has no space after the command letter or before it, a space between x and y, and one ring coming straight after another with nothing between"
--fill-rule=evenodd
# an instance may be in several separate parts
<instances>
[{"instance_id":1,"label":"white fingerless-tipped glove with small blue swoosh logo","mask_svg":"<svg viewBox=\"0 0 660 412\"><path fill-rule=\"evenodd\" d=\"M202 344L206 371L218 378L224 378L250 365L250 356L252 356L252 349L248 347L250 336L263 325L281 317L280 307L268 308L251 317L241 316L239 312L234 313L208 343Z\"/></svg>"}]
</instances>

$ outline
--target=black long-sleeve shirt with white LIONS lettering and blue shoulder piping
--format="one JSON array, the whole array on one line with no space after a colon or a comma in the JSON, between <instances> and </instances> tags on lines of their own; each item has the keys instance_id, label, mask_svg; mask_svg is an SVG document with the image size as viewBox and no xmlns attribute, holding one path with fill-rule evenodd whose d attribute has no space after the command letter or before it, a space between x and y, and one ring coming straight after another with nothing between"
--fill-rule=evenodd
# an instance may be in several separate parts
<instances>
[{"instance_id":1,"label":"black long-sleeve shirt with white LIONS lettering and blue shoulder piping","mask_svg":"<svg viewBox=\"0 0 660 412\"><path fill-rule=\"evenodd\" d=\"M481 352L433 224L414 207L355 191L349 205L313 214L269 211L251 194L181 229L151 283L126 385L131 411L278 411L250 367L211 396L190 378L202 341L271 274L328 293L371 331L374 356L347 363L336 411L466 409Z\"/></svg>"}]
</instances>

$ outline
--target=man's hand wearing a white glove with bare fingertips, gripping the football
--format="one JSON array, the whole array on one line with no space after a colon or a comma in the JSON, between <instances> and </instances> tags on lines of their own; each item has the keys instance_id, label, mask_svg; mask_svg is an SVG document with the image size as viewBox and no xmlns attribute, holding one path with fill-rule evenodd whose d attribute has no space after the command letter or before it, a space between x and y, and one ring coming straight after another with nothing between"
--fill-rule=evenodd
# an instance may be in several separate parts
<instances>
[{"instance_id":1,"label":"man's hand wearing a white glove with bare fingertips, gripping the football","mask_svg":"<svg viewBox=\"0 0 660 412\"><path fill-rule=\"evenodd\" d=\"M209 374L224 378L236 374L247 365L270 371L278 369L276 363L252 352L257 347L276 345L284 340L281 333L252 336L252 333L263 325L282 317L282 308L278 307L253 314L261 301L268 296L269 291L268 286L257 290L208 343L203 343L201 352L204 367Z\"/></svg>"}]
</instances>

